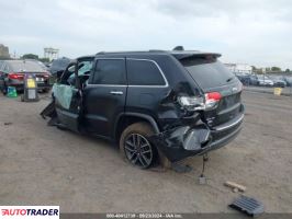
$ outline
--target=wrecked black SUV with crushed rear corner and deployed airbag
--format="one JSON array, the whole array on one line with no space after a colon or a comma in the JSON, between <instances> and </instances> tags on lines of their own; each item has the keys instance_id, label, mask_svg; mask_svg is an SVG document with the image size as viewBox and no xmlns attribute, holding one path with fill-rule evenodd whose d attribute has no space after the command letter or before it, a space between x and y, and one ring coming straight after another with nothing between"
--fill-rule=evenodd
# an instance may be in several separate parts
<instances>
[{"instance_id":1,"label":"wrecked black SUV with crushed rear corner and deployed airbag","mask_svg":"<svg viewBox=\"0 0 292 219\"><path fill-rule=\"evenodd\" d=\"M242 128L242 83L218 54L187 50L99 53L80 57L53 87L42 112L50 124L119 142L146 169L233 140Z\"/></svg>"}]
</instances>

